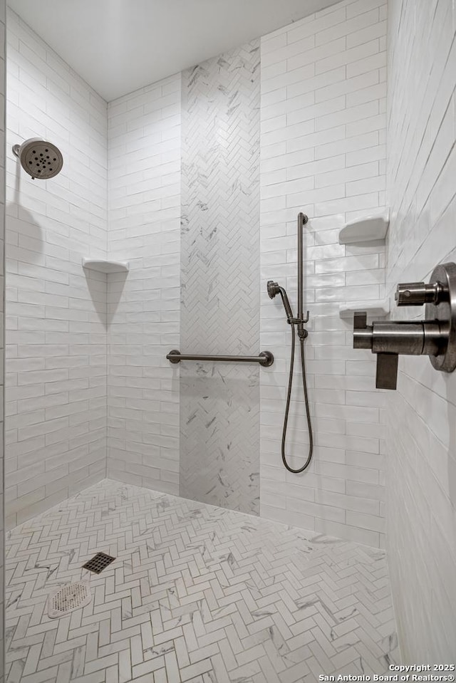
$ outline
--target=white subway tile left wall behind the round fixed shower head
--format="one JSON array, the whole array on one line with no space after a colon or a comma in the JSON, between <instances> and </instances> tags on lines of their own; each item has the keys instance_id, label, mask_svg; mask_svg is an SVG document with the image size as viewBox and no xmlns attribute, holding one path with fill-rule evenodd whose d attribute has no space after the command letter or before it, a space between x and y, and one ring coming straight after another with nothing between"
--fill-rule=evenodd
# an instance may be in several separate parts
<instances>
[{"instance_id":1,"label":"white subway tile left wall behind the round fixed shower head","mask_svg":"<svg viewBox=\"0 0 456 683\"><path fill-rule=\"evenodd\" d=\"M8 14L6 522L105 476L106 103ZM33 180L11 152L55 143L63 170Z\"/></svg>"}]
</instances>

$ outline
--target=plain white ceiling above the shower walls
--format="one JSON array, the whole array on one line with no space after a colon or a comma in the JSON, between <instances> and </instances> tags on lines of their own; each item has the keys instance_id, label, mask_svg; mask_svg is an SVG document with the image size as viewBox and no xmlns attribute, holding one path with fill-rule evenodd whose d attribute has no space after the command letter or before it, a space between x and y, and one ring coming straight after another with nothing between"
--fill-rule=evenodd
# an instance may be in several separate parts
<instances>
[{"instance_id":1,"label":"plain white ceiling above the shower walls","mask_svg":"<svg viewBox=\"0 0 456 683\"><path fill-rule=\"evenodd\" d=\"M9 4L110 101L336 1L9 0Z\"/></svg>"}]
</instances>

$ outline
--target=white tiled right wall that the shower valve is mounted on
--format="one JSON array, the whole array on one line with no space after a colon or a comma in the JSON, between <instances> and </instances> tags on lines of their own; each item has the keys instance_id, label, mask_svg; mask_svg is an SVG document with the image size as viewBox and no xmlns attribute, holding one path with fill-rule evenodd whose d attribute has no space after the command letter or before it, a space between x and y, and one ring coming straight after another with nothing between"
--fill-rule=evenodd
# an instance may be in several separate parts
<instances>
[{"instance_id":1,"label":"white tiled right wall that the shower valve is mounted on","mask_svg":"<svg viewBox=\"0 0 456 683\"><path fill-rule=\"evenodd\" d=\"M388 291L456 261L456 7L390 0ZM423 49L424 48L424 49ZM393 318L422 318L397 309ZM388 394L388 558L404 663L455 662L456 372L401 357Z\"/></svg>"}]
</instances>

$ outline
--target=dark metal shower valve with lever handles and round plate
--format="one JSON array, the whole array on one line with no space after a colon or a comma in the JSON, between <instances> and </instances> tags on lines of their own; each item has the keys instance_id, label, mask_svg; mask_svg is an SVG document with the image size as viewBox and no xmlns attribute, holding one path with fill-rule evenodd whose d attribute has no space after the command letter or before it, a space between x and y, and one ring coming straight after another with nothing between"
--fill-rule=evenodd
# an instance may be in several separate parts
<instances>
[{"instance_id":1,"label":"dark metal shower valve with lever handles and round plate","mask_svg":"<svg viewBox=\"0 0 456 683\"><path fill-rule=\"evenodd\" d=\"M397 306L425 304L425 320L376 321L368 325L363 311L357 311L353 318L353 348L371 349L377 354L375 386L396 388L400 354L428 355L435 370L453 372L456 369L456 264L434 268L428 284L398 284L395 301Z\"/></svg>"}]
</instances>

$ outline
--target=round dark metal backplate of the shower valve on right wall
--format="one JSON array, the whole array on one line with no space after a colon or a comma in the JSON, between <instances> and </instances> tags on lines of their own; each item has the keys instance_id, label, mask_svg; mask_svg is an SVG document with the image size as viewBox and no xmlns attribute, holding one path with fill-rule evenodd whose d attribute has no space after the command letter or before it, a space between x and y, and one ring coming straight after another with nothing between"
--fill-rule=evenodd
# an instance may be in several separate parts
<instances>
[{"instance_id":1,"label":"round dark metal backplate of the shower valve on right wall","mask_svg":"<svg viewBox=\"0 0 456 683\"><path fill-rule=\"evenodd\" d=\"M452 372L456 370L456 264L440 264L432 271L430 283L440 283L437 303L426 304L426 320L437 320L440 324L442 353L430 356L430 362L435 370Z\"/></svg>"}]
</instances>

